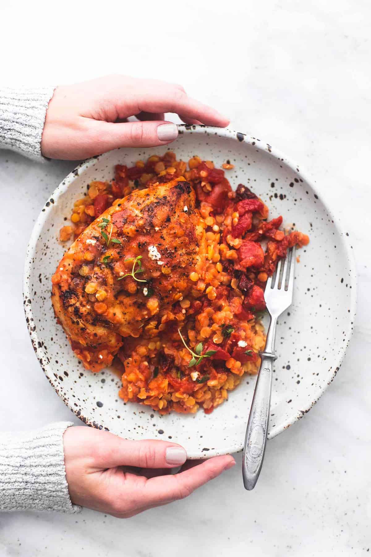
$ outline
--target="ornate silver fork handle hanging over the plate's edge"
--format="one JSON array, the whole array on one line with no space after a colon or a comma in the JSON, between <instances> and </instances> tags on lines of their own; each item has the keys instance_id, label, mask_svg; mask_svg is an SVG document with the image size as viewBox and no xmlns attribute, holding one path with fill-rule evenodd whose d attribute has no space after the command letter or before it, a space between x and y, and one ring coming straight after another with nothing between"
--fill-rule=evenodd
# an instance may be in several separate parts
<instances>
[{"instance_id":1,"label":"ornate silver fork handle hanging over the plate's edge","mask_svg":"<svg viewBox=\"0 0 371 557\"><path fill-rule=\"evenodd\" d=\"M272 368L276 357L266 352L261 354L260 369L251 403L242 461L244 486L249 491L255 487L263 464L269 423Z\"/></svg>"}]
</instances>

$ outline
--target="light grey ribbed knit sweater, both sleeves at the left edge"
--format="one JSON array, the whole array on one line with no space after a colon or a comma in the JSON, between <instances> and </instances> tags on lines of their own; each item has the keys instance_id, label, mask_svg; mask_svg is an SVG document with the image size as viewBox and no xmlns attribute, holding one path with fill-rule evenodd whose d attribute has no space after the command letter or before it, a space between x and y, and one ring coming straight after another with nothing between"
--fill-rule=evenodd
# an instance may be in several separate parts
<instances>
[{"instance_id":1,"label":"light grey ribbed knit sweater, both sleeves at the left edge","mask_svg":"<svg viewBox=\"0 0 371 557\"><path fill-rule=\"evenodd\" d=\"M0 148L43 160L40 141L55 87L0 86ZM63 433L72 422L0 433L0 511L78 512L68 495Z\"/></svg>"}]
</instances>

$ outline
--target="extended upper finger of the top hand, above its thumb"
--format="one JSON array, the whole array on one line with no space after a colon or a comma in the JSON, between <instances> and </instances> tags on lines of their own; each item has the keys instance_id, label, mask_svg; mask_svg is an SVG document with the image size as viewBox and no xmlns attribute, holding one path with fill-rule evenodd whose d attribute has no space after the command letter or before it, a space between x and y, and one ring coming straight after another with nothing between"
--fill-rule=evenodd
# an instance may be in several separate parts
<instances>
[{"instance_id":1,"label":"extended upper finger of the top hand, above its thumb","mask_svg":"<svg viewBox=\"0 0 371 557\"><path fill-rule=\"evenodd\" d=\"M185 118L196 119L202 124L210 126L225 128L229 124L229 119L222 116L217 110L192 99L180 89L155 91L149 99L144 97L138 100L138 108L149 112L181 114Z\"/></svg>"}]
</instances>

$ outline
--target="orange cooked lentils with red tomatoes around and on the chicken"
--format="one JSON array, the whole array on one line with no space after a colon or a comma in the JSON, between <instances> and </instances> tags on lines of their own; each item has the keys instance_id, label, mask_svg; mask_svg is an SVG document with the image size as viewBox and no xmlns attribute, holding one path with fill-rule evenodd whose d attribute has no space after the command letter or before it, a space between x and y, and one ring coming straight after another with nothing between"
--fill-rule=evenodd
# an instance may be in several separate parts
<instances>
[{"instance_id":1,"label":"orange cooked lentils with red tomatoes around and on the chicken","mask_svg":"<svg viewBox=\"0 0 371 557\"><path fill-rule=\"evenodd\" d=\"M244 374L257 373L265 334L256 314L265 309L265 282L288 247L301 247L309 242L308 236L301 232L285 236L279 230L282 217L268 221L268 207L263 201L243 184L234 192L224 170L216 169L212 161L202 161L195 155L188 161L188 167L187 170L186 163L176 160L170 151L162 157L152 155L147 162L139 160L132 168L117 165L115 179L111 182L90 184L87 196L74 204L72 226L60 231L61 241L69 240L72 233L77 238L108 207L122 202L122 198L136 188L170 180L186 181L194 188L196 208L193 212L198 216L197 233L204 237L204 251L199 253L188 280L179 281L179 291L172 295L172 305L162 307L159 297L152 295L151 277L135 273L127 277L128 264L117 261L115 265L118 276L123 278L125 295L144 296L150 317L142 328L121 332L125 340L120 344L116 339L111 352L101 349L98 363L92 351L74 348L85 367L92 371L109 364L117 353L116 365L122 369L120 398L125 402L145 404L160 414L195 413L199 408L211 413L227 399L228 391L240 383ZM230 170L234 165L228 161L222 167ZM184 206L178 215L181 226L175 230L175 235L184 233L182 224L190 218L189 214L189 207ZM117 225L115 234L119 232ZM260 243L263 239L268 240L266 251ZM169 262L161 260L156 246L149 246L148 250L151 259L159 265L156 280L161 274L164 280L170 280ZM87 263L95 258L90 253L87 250L83 255ZM103 258L106 267L110 265L110 258ZM82 265L78 273L82 277L89 276L90 267ZM140 290L136 282L138 277L144 277ZM57 270L53 285L60 282L61 273ZM88 279L85 292L89 299L91 296L98 315L106 316L112 324L120 324L118 306L115 306L114 316L112 311L110 313L111 292L107 294L105 287ZM116 295L120 298L120 291ZM190 351L204 355L200 363L192 364L194 356ZM206 356L207 353L210 355Z\"/></svg>"}]
</instances>

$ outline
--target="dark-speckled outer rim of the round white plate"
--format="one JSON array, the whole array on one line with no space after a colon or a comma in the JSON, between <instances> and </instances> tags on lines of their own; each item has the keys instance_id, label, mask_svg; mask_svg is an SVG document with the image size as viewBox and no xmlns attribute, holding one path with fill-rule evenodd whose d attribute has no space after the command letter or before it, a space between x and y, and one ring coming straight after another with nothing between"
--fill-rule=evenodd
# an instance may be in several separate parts
<instances>
[{"instance_id":1,"label":"dark-speckled outer rim of the round white plate","mask_svg":"<svg viewBox=\"0 0 371 557\"><path fill-rule=\"evenodd\" d=\"M323 395L325 390L327 390L329 385L332 383L332 381L334 380L335 376L338 373L338 370L340 369L340 367L342 365L345 353L346 353L348 345L349 345L349 341L352 338L352 334L353 334L353 329L354 328L352 327L352 322L354 323L355 316L356 316L356 313L357 313L358 280L357 280L357 267L355 265L355 257L354 257L353 248L349 243L350 241L348 241L346 239L347 238L347 235L346 235L347 233L345 233L345 231L342 227L342 223L340 222L339 217L334 215L333 212L332 212L332 209L330 209L330 207L329 207L326 192L323 192L323 191L319 192L317 187L316 187L316 181L311 176L311 174L306 169L303 171L301 169L301 165L299 167L298 164L294 164L292 159L288 158L285 154L281 153L280 149L273 148L269 143L265 143L265 141L257 139L254 136L250 136L250 135L245 134L245 133L237 132L237 131L232 130L230 128L215 128L214 126L207 126L207 125L203 125L203 124L202 125L201 124L197 124L197 125L180 124L177 127L179 128L179 132L181 134L184 134L184 133L204 134L204 133L207 133L209 131L210 133L213 133L214 135L218 135L221 138L234 139L234 140L241 141L241 142L244 141L245 143L253 145L254 148L256 148L260 151L263 151L263 152L268 152L274 158L279 159L282 162L284 162L285 165L287 165L293 172L299 174L300 177L303 178L303 180L305 180L305 182L310 185L313 192L318 196L321 203L323 203L323 206L325 207L326 211L328 212L329 217L331 217L331 219L333 221L333 224L334 224L335 228L337 229L337 231L339 233L340 240L342 242L342 246L343 246L344 251L345 251L345 253L347 255L347 258L348 258L349 282L350 282L350 286L352 286L352 288L350 289L350 307L349 307L350 312L349 312L347 330L345 331L346 334L344 335L344 338L346 339L346 342L344 343L344 346L340 349L337 358L335 358L333 363L332 363L333 374L329 378L327 384L325 384L321 388L316 389L316 391L313 394L313 398L312 398L311 402L309 403L308 408L305 408L304 413L300 412L300 415L298 415L295 412L293 412L290 416L288 416L280 424L276 424L276 426L273 430L268 431L268 439L272 439L272 438L276 437L279 433L282 433L283 431L285 431L285 429L288 429L295 422L298 422L300 418L305 416L305 414L308 413L309 410L314 407L314 405L319 400L321 395ZM112 149L111 152L116 151L116 150L120 150L120 149L122 149L122 148ZM127 148L123 148L123 149L127 149ZM107 152L107 153L109 153L109 152ZM31 326L31 324L34 323L34 321L33 321L34 316L33 316L33 311L32 311L32 291L31 291L31 280L30 279L31 279L31 271L32 271L32 261L33 261L34 253L35 253L35 250L36 250L36 245L37 245L39 233L41 232L41 230L43 228L43 225L44 225L44 223L46 221L46 218L47 218L47 213L48 213L47 209L51 205L55 204L58 201L58 198L67 191L70 184L80 174L85 172L86 169L90 168L93 164L95 164L96 160L98 160L100 157L102 157L105 154L106 153L102 153L101 155L95 155L95 157L91 157L89 159L83 160L80 164L77 165L76 168L74 168L73 170L71 170L71 172L69 174L67 174L67 176L60 182L60 184L58 184L56 189L53 190L51 195L48 197L48 200L44 204L44 207L41 209L41 212L39 213L39 215L36 219L36 222L34 223L34 226L33 226L32 232L31 232L31 236L29 238L28 245L27 245L26 258L25 258L25 262L24 262L24 271L23 271L23 307L24 307L24 313L25 313L25 316L26 316L26 323L27 323L28 333L29 333L29 336L31 338L31 343L32 343L34 352L36 354L36 357L39 360L39 364L41 365L41 368L44 372L44 375L46 375L46 378L48 379L48 381L52 385L53 389L55 389L56 393L58 394L58 396L60 398L62 398L63 402L67 405L67 407L70 408L70 410L75 414L75 416L78 417L83 423L85 423L89 426L92 426L92 427L94 427L94 426L93 426L93 423L92 423L91 419L86 417L86 416L83 416L81 413L78 414L79 410L77 408L72 407L72 405L70 403L68 403L62 397L61 393L59 392L59 389L58 389L57 385L53 383L53 380L52 380L53 372L51 370L51 364L49 364L47 362L43 362L43 363L40 362L41 358L38 355L38 351L40 350L41 347L38 346L39 338L38 338L38 334L37 334L37 329L34 328L34 330L33 330L33 327ZM300 168L300 170L299 170L299 168ZM28 303L27 300L31 300L31 303ZM248 413L246 412L246 424L247 424L247 421L248 421ZM215 455L240 452L240 451L242 451L243 446L244 446L244 439L241 439L240 443L235 442L235 443L231 444L230 446L223 448L222 451L219 451L217 448L216 449L210 449L210 451L207 453L207 456L205 455L205 453L202 453L202 455L201 455L201 453L193 452L189 455L189 458L210 458L210 457L215 456Z\"/></svg>"}]
</instances>

